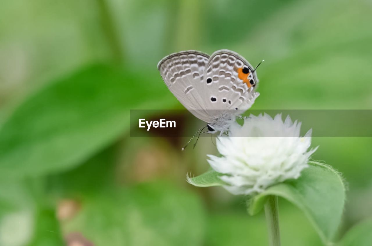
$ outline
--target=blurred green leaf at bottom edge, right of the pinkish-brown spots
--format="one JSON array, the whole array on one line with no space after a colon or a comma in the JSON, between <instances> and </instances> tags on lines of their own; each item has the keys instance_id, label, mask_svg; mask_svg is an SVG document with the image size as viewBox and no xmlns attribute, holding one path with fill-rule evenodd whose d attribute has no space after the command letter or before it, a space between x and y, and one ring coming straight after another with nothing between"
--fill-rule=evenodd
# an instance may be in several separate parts
<instances>
[{"instance_id":1,"label":"blurred green leaf at bottom edge, right of the pinkish-brown spots","mask_svg":"<svg viewBox=\"0 0 372 246\"><path fill-rule=\"evenodd\" d=\"M82 201L81 211L63 227L97 246L191 246L202 243L204 219L195 195L167 183L149 183Z\"/></svg>"}]
</instances>

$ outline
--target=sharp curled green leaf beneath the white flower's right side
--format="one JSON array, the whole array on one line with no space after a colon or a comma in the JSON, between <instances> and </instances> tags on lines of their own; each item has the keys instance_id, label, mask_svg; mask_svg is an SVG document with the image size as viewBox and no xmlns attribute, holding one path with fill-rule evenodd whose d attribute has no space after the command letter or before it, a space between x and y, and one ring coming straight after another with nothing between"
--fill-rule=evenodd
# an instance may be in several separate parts
<instances>
[{"instance_id":1,"label":"sharp curled green leaf beneath the white flower's right side","mask_svg":"<svg viewBox=\"0 0 372 246\"><path fill-rule=\"evenodd\" d=\"M248 213L253 215L262 210L269 195L283 197L305 213L323 242L328 243L341 221L345 188L339 173L330 166L309 164L298 179L274 185L252 197Z\"/></svg>"}]
</instances>

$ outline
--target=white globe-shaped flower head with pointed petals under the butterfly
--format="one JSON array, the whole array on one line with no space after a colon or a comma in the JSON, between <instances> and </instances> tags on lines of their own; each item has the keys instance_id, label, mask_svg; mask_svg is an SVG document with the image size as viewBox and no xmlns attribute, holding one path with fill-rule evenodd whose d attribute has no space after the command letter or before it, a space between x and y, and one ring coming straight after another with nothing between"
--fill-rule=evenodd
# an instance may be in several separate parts
<instances>
[{"instance_id":1,"label":"white globe-shaped flower head with pointed petals under the butterfly","mask_svg":"<svg viewBox=\"0 0 372 246\"><path fill-rule=\"evenodd\" d=\"M243 126L233 123L228 136L217 138L217 149L222 157L208 155L211 167L222 174L224 188L232 194L262 192L267 187L296 179L307 168L310 155L311 129L300 137L301 123L285 122L278 114L250 115Z\"/></svg>"}]
</instances>

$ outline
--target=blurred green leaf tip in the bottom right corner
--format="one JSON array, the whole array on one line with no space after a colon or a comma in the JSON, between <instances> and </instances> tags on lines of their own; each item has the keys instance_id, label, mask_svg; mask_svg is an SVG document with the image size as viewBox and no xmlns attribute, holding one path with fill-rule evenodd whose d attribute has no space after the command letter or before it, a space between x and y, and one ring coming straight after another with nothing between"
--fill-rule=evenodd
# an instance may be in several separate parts
<instances>
[{"instance_id":1,"label":"blurred green leaf tip in the bottom right corner","mask_svg":"<svg viewBox=\"0 0 372 246\"><path fill-rule=\"evenodd\" d=\"M372 219L363 221L352 227L340 242L341 246L372 245Z\"/></svg>"}]
</instances>

